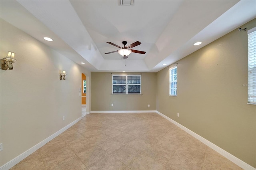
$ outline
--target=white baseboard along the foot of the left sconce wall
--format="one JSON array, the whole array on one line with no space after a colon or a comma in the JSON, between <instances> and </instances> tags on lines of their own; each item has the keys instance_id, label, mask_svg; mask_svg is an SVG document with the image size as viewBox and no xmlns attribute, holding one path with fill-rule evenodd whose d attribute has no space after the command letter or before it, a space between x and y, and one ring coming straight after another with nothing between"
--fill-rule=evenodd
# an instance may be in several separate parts
<instances>
[{"instance_id":1,"label":"white baseboard along the foot of the left sconce wall","mask_svg":"<svg viewBox=\"0 0 256 170\"><path fill-rule=\"evenodd\" d=\"M25 159L26 157L28 157L30 154L34 153L36 150L38 150L39 148L41 148L42 146L44 146L46 143L50 142L52 139L54 139L56 136L58 136L59 134L61 134L62 132L64 132L65 130L67 130L68 128L72 127L74 124L76 124L78 121L80 121L82 119L82 117L76 119L75 121L73 121L72 123L68 124L66 127L60 129L58 132L52 134L51 136L49 136L48 138L44 139L43 141L39 142L38 144L36 144L35 146L33 146L32 148L26 150L25 152L23 152L22 154L20 154L19 156L17 156L16 158L10 160L9 162L7 162L6 164L4 164L3 166L0 167L0 170L8 170L10 168L12 168L14 165L18 164L20 161L22 161L23 159Z\"/></svg>"}]
</instances>

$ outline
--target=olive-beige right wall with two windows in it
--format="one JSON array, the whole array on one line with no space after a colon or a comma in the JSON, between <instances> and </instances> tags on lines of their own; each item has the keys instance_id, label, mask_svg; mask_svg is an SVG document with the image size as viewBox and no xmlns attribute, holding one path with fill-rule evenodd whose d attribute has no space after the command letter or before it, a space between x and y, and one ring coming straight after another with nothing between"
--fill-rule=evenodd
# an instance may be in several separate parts
<instances>
[{"instance_id":1,"label":"olive-beige right wall with two windows in it","mask_svg":"<svg viewBox=\"0 0 256 170\"><path fill-rule=\"evenodd\" d=\"M177 97L168 95L169 70L159 71L156 109L256 168L256 105L243 86L247 38L236 29L178 61Z\"/></svg>"}]
</instances>

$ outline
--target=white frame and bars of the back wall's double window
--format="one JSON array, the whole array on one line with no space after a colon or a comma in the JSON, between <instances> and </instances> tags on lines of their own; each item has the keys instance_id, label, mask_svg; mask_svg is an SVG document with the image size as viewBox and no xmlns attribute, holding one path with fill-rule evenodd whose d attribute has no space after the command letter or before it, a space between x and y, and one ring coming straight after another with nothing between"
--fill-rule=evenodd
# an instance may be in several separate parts
<instances>
[{"instance_id":1,"label":"white frame and bars of the back wall's double window","mask_svg":"<svg viewBox=\"0 0 256 170\"><path fill-rule=\"evenodd\" d=\"M125 83L117 83L117 84L114 84L113 83L113 77L114 76L123 76L125 77ZM140 83L136 83L136 84L131 84L131 83L128 83L128 77L140 77ZM114 94L114 95L141 95L141 91L142 91L142 88L141 88L141 74L136 74L136 75L123 75L123 74L112 74L112 93L111 94ZM125 93L114 93L114 85L125 85ZM128 93L128 86L131 85L131 86L137 86L139 85L140 86L140 93Z\"/></svg>"}]
</instances>

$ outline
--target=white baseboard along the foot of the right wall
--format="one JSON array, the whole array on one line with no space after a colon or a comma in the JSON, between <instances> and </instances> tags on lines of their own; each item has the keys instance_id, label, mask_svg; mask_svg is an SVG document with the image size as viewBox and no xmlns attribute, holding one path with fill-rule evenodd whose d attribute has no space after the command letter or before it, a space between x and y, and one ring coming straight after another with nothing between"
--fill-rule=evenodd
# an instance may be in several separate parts
<instances>
[{"instance_id":1,"label":"white baseboard along the foot of the right wall","mask_svg":"<svg viewBox=\"0 0 256 170\"><path fill-rule=\"evenodd\" d=\"M156 111L156 113L158 113L159 115L161 115L162 117L164 117L165 119L167 119L168 121L172 122L174 125L177 125L178 127L182 128L185 132L187 132L188 134L190 134L191 136L193 136L194 138L197 138L198 140L200 140L202 143L206 144L207 146L209 146L210 148L212 148L213 150L215 150L216 152L218 152L219 154L221 154L222 156L226 157L228 160L234 162L235 164L237 164L238 166L240 166L241 168L243 168L244 170L256 170L256 168L250 166L249 164L247 164L246 162L236 158L236 156L228 153L226 150L220 148L219 146L213 144L212 142L210 142L209 140L206 140L205 138L203 138L202 136L196 134L195 132L193 132L192 130L189 130L188 128L184 127L183 125L180 125L178 122L170 119L169 117L167 117L166 115Z\"/></svg>"}]
</instances>

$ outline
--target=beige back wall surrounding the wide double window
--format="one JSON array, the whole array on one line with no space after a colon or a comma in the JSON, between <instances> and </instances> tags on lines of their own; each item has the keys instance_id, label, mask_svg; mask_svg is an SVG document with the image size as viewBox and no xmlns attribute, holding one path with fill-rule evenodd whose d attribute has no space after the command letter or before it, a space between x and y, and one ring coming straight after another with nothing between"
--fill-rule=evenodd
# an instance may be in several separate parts
<instances>
[{"instance_id":1,"label":"beige back wall surrounding the wide double window","mask_svg":"<svg viewBox=\"0 0 256 170\"><path fill-rule=\"evenodd\" d=\"M124 73L113 73L124 74ZM141 73L125 73L141 74ZM109 72L91 73L92 111L146 111L156 110L156 73L142 73L142 95L111 95L112 74ZM113 103L113 106L111 106ZM150 107L148 107L150 105Z\"/></svg>"}]
</instances>

